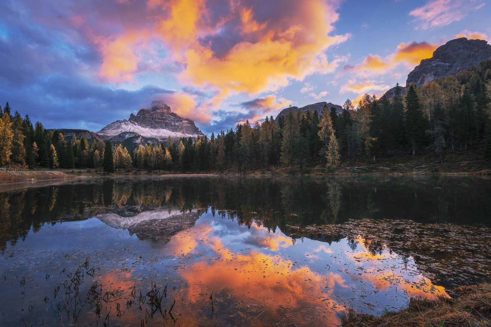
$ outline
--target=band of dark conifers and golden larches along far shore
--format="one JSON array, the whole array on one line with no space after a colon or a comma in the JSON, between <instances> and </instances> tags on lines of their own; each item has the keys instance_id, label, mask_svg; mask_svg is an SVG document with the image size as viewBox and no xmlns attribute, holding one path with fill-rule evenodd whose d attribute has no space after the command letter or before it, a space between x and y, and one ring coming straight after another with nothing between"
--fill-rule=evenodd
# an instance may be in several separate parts
<instances>
[{"instance_id":1,"label":"band of dark conifers and golden larches along far shore","mask_svg":"<svg viewBox=\"0 0 491 327\"><path fill-rule=\"evenodd\" d=\"M334 167L364 156L434 151L444 165L445 151L465 151L480 145L484 159L491 159L491 60L457 75L440 78L422 87L410 85L405 94L397 84L394 97L367 94L356 107L349 99L342 112L324 107L322 112L290 111L277 121L246 121L217 135L169 139L127 150L121 145L75 135L66 139L57 130L34 126L26 115L0 107L0 164L29 168L95 168L222 171L243 174L271 170L272 166ZM483 146L484 145L484 146Z\"/></svg>"}]
</instances>

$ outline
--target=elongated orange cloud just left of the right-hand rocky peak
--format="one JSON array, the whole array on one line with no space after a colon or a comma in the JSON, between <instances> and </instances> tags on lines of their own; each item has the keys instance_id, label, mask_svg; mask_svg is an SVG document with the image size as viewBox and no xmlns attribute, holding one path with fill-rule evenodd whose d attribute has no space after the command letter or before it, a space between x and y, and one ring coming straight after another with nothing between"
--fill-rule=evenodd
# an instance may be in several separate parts
<instances>
[{"instance_id":1,"label":"elongated orange cloud just left of the right-hand rocky peak","mask_svg":"<svg viewBox=\"0 0 491 327\"><path fill-rule=\"evenodd\" d=\"M382 58L380 55L369 54L362 62L355 66L345 66L338 74L352 71L356 75L368 77L370 75L384 74L395 69L398 65L418 65L422 59L431 58L437 46L428 42L400 43L396 50Z\"/></svg>"}]
</instances>

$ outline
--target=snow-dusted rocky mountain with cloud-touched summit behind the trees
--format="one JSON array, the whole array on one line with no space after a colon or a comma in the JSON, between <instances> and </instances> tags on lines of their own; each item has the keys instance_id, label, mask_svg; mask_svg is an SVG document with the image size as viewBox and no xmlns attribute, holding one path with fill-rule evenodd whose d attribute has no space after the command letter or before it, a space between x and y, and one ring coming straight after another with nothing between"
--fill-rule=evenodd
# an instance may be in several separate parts
<instances>
[{"instance_id":1,"label":"snow-dusted rocky mountain with cloud-touched summit behind the trees","mask_svg":"<svg viewBox=\"0 0 491 327\"><path fill-rule=\"evenodd\" d=\"M166 140L169 136L173 140L180 137L204 136L191 119L179 117L160 100L153 101L150 110L140 109L136 116L132 113L130 119L115 121L97 132L103 140L120 136L119 141L135 136L135 133L160 141Z\"/></svg>"}]
</instances>

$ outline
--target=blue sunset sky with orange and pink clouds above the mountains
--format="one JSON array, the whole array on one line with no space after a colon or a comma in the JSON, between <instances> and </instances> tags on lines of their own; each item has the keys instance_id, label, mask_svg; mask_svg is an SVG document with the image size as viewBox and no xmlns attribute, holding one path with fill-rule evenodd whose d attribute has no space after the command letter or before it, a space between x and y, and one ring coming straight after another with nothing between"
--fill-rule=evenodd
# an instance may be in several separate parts
<instances>
[{"instance_id":1,"label":"blue sunset sky with orange and pink clouds above the mountains","mask_svg":"<svg viewBox=\"0 0 491 327\"><path fill-rule=\"evenodd\" d=\"M2 0L0 104L98 131L154 100L209 136L292 106L380 97L487 0Z\"/></svg>"}]
</instances>

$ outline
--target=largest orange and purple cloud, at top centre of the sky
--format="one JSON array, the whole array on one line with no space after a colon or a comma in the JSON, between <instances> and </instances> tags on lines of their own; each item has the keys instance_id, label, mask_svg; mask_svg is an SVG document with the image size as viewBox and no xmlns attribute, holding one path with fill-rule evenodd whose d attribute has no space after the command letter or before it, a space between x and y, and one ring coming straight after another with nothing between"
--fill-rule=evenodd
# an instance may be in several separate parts
<instances>
[{"instance_id":1,"label":"largest orange and purple cloud, at top centre of the sky","mask_svg":"<svg viewBox=\"0 0 491 327\"><path fill-rule=\"evenodd\" d=\"M291 1L269 17L258 14L261 4L247 1L231 1L225 14L215 13L207 0L149 0L146 5L143 29L128 25L121 35L94 38L103 57L99 76L134 81L138 67L144 66L141 53L163 44L165 58L154 56L152 61L178 64L181 83L216 91L209 109L231 94L275 91L292 79L332 72L345 59L328 60L326 50L351 36L328 35L338 20L337 1ZM240 37L234 37L237 43L229 49L217 50L212 41L204 41L236 32Z\"/></svg>"}]
</instances>

